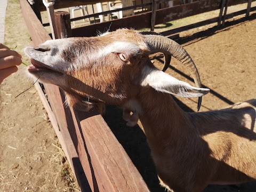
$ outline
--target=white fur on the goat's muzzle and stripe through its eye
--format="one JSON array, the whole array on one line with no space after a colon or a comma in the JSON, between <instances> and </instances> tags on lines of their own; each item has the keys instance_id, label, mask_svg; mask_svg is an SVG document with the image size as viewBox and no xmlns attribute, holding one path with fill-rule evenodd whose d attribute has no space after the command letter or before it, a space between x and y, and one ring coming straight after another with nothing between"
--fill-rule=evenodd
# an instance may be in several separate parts
<instances>
[{"instance_id":1,"label":"white fur on the goat's muzzle and stripe through its eye","mask_svg":"<svg viewBox=\"0 0 256 192\"><path fill-rule=\"evenodd\" d=\"M60 71L73 71L74 69L83 68L83 65L87 65L88 63L95 63L95 61L99 61L109 53L125 53L127 57L129 57L130 55L140 52L139 46L130 42L114 42L103 48L98 48L98 50L97 47L93 47L92 45L91 49L96 49L89 49L90 52L87 54L83 53L82 50L80 52L74 51L72 55L75 59L73 63L69 63L61 57L61 53L73 43L74 42L69 38L50 40L38 46L49 47L51 49L50 51L40 52L36 51L33 47L27 47L25 53L30 58L40 61L52 68ZM69 57L69 55L67 55L67 57Z\"/></svg>"}]
</instances>

